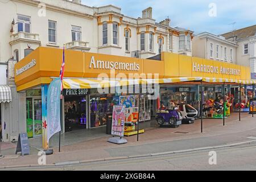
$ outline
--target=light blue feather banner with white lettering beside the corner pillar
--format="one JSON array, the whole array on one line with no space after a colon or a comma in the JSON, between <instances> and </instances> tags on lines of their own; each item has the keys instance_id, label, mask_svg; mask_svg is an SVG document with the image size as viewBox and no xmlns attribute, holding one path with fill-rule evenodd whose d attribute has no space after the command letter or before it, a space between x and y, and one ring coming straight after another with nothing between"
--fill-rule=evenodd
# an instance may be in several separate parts
<instances>
[{"instance_id":1,"label":"light blue feather banner with white lettering beside the corner pillar","mask_svg":"<svg viewBox=\"0 0 256 182\"><path fill-rule=\"evenodd\" d=\"M55 78L48 88L47 94L47 142L55 133L61 131L60 126L60 78Z\"/></svg>"}]
</instances>

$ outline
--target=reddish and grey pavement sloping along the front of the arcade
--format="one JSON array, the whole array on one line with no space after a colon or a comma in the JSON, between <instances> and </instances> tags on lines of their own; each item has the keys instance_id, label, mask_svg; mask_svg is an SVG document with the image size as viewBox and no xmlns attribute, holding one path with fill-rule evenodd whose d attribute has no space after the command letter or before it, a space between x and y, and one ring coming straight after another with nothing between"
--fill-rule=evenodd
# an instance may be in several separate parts
<instances>
[{"instance_id":1,"label":"reddish and grey pavement sloping along the front of the arcade","mask_svg":"<svg viewBox=\"0 0 256 182\"><path fill-rule=\"evenodd\" d=\"M86 163L99 160L114 160L136 158L139 156L163 155L168 152L183 152L203 150L209 147L227 147L239 143L251 143L256 140L256 119L247 113L238 113L225 119L204 119L204 133L201 133L201 122L197 119L192 125L181 125L176 129L152 126L144 134L126 137L128 143L116 145L108 143L109 135L90 140L79 140L77 143L67 144L58 148L53 147L55 153L46 158L48 166L68 163ZM237 143L237 144L234 144ZM20 156L6 155L0 159L0 169L20 166L38 166L38 155Z\"/></svg>"}]
</instances>

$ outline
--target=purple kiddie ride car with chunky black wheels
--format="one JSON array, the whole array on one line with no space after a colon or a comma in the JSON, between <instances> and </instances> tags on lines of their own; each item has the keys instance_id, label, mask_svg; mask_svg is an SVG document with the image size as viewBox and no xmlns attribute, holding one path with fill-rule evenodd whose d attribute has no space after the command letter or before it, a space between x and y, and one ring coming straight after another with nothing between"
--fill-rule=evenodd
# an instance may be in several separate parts
<instances>
[{"instance_id":1,"label":"purple kiddie ride car with chunky black wheels","mask_svg":"<svg viewBox=\"0 0 256 182\"><path fill-rule=\"evenodd\" d=\"M160 127L179 127L181 120L180 112L175 109L160 109L156 112L156 121Z\"/></svg>"}]
</instances>

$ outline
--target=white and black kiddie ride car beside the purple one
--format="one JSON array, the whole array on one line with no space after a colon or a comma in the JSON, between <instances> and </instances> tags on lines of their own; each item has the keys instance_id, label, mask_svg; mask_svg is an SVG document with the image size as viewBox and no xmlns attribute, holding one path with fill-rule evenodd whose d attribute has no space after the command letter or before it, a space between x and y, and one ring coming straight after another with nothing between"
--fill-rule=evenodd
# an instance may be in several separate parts
<instances>
[{"instance_id":1,"label":"white and black kiddie ride car beside the purple one","mask_svg":"<svg viewBox=\"0 0 256 182\"><path fill-rule=\"evenodd\" d=\"M194 123L198 111L189 104L179 104L178 106L182 115L182 124Z\"/></svg>"}]
</instances>

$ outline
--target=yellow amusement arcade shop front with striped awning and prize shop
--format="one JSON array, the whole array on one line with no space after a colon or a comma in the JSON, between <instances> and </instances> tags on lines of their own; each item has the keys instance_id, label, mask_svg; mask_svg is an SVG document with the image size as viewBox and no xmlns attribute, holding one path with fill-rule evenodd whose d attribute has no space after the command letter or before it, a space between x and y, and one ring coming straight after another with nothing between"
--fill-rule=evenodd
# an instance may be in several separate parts
<instances>
[{"instance_id":1,"label":"yellow amusement arcade shop front with striped awning and prize shop","mask_svg":"<svg viewBox=\"0 0 256 182\"><path fill-rule=\"evenodd\" d=\"M43 137L43 147L48 85L59 77L61 61L56 60L62 53L39 47L15 65L17 91L26 92L23 124L29 137ZM167 52L162 60L146 60L67 50L65 60L63 132L106 126L118 104L126 106L131 122L151 121L156 110L170 107L170 102L199 106L201 82L215 83L204 85L208 100L221 95L221 82L250 80L250 68Z\"/></svg>"}]
</instances>

